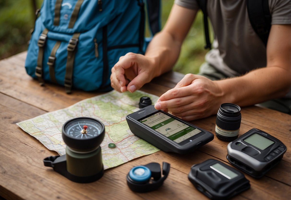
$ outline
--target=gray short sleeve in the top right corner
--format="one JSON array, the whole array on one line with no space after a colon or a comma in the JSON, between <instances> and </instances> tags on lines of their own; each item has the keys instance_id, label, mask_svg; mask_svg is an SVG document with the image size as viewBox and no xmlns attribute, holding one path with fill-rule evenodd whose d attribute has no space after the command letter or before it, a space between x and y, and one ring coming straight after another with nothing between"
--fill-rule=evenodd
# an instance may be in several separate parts
<instances>
[{"instance_id":1,"label":"gray short sleeve in the top right corner","mask_svg":"<svg viewBox=\"0 0 291 200\"><path fill-rule=\"evenodd\" d=\"M291 0L269 0L271 24L291 24Z\"/></svg>"}]
</instances>

